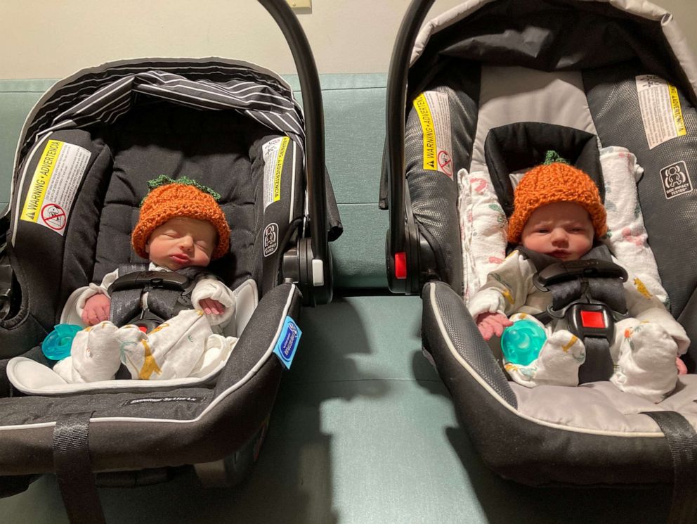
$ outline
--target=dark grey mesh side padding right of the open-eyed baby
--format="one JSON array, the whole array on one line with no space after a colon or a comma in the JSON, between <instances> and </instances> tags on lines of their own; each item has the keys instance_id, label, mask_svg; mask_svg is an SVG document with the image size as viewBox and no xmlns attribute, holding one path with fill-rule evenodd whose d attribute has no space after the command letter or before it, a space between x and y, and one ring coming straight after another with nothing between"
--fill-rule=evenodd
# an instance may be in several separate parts
<instances>
[{"instance_id":1,"label":"dark grey mesh side padding right of the open-eyed baby","mask_svg":"<svg viewBox=\"0 0 697 524\"><path fill-rule=\"evenodd\" d=\"M697 256L697 193L693 191L697 111L678 87L686 134L649 149L637 95L636 77L643 74L646 70L639 65L627 63L587 70L583 77L601 143L629 149L644 167L644 177L637 184L639 203L660 278L670 297L670 311L677 317L697 286L697 271L692 264L685 264ZM677 166L691 191L676 196L667 193L671 166ZM689 333L694 329L691 324L683 324Z\"/></svg>"}]
</instances>

